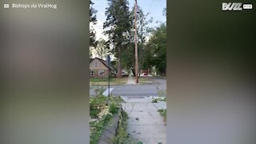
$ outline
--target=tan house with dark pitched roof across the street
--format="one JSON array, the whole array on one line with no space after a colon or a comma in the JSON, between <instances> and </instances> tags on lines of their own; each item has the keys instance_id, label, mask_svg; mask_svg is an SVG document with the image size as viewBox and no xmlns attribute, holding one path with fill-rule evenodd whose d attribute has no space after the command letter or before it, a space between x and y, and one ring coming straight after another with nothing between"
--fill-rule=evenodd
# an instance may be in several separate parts
<instances>
[{"instance_id":1,"label":"tan house with dark pitched roof across the street","mask_svg":"<svg viewBox=\"0 0 256 144\"><path fill-rule=\"evenodd\" d=\"M110 72L113 68L110 67ZM109 66L101 58L90 58L90 78L108 78Z\"/></svg>"}]
</instances>

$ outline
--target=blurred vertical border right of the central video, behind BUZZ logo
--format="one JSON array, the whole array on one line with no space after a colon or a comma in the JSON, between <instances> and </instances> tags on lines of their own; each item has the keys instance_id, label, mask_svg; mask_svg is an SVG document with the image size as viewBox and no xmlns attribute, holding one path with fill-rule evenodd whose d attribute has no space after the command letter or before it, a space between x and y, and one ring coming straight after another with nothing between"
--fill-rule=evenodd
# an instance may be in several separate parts
<instances>
[{"instance_id":1,"label":"blurred vertical border right of the central video, behind BUZZ logo","mask_svg":"<svg viewBox=\"0 0 256 144\"><path fill-rule=\"evenodd\" d=\"M222 2L167 2L168 143L256 142L256 9Z\"/></svg>"}]
</instances>

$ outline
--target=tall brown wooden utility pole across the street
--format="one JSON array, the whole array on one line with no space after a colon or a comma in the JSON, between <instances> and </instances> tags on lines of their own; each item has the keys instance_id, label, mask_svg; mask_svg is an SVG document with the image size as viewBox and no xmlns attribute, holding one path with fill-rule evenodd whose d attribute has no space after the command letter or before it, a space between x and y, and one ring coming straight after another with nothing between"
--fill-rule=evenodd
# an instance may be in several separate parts
<instances>
[{"instance_id":1,"label":"tall brown wooden utility pole across the street","mask_svg":"<svg viewBox=\"0 0 256 144\"><path fill-rule=\"evenodd\" d=\"M134 43L135 43L135 80L136 84L138 83L138 46L137 46L137 0L134 4Z\"/></svg>"}]
</instances>

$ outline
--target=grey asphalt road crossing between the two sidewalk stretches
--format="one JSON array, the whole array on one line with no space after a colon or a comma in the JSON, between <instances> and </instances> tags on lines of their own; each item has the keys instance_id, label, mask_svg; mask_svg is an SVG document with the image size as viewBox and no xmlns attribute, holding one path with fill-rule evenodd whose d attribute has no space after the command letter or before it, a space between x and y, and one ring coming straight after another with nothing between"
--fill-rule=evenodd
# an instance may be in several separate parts
<instances>
[{"instance_id":1,"label":"grey asphalt road crossing between the two sidewalk stretches","mask_svg":"<svg viewBox=\"0 0 256 144\"><path fill-rule=\"evenodd\" d=\"M158 90L166 90L166 78L162 77L150 77L151 84L142 85L120 85L110 86L114 88L112 94L114 96L130 96L130 97L142 97L142 96L158 96ZM108 88L108 86L103 86ZM94 90L90 89L90 95L94 95Z\"/></svg>"}]
</instances>

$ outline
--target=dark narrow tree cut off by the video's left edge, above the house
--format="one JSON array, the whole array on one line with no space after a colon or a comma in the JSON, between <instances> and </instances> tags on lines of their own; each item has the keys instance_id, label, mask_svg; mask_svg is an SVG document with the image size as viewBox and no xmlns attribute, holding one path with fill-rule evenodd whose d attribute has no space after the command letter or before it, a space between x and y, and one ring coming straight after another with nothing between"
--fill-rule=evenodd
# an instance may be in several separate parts
<instances>
[{"instance_id":1,"label":"dark narrow tree cut off by the video's left edge, above the house","mask_svg":"<svg viewBox=\"0 0 256 144\"><path fill-rule=\"evenodd\" d=\"M97 10L93 8L94 2L90 1L90 46L97 46L96 36L93 25L97 23Z\"/></svg>"}]
</instances>

